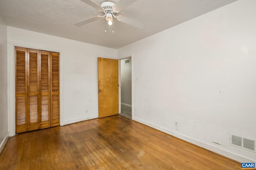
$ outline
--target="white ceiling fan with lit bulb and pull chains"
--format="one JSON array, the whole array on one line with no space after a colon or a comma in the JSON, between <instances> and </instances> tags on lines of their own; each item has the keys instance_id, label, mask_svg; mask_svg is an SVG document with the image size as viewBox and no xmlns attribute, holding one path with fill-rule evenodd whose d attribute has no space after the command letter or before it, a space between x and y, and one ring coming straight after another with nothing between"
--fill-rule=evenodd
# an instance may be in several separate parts
<instances>
[{"instance_id":1,"label":"white ceiling fan with lit bulb and pull chains","mask_svg":"<svg viewBox=\"0 0 256 170\"><path fill-rule=\"evenodd\" d=\"M120 0L116 4L113 2L103 2L100 6L96 4L95 2L91 0L81 0L82 2L92 6L93 8L99 10L104 14L104 16L95 16L92 18L88 18L86 20L79 21L78 23L75 23L74 25L80 27L82 25L85 25L87 23L100 20L102 18L106 18L106 21L108 21L108 25L110 28L110 33L114 33L114 26L113 26L113 18L116 18L118 21L127 23L129 25L132 25L134 27L138 27L140 29L143 29L146 24L133 20L131 18L125 17L125 16L116 16L118 12L129 6L130 4L134 3L136 0ZM105 29L106 32L106 29Z\"/></svg>"}]
</instances>

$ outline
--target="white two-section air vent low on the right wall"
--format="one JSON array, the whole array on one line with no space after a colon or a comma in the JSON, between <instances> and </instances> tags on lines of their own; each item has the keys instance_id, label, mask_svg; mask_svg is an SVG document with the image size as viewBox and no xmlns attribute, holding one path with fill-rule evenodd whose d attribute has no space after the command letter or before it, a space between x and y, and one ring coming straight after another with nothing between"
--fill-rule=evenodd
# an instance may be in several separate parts
<instances>
[{"instance_id":1,"label":"white two-section air vent low on the right wall","mask_svg":"<svg viewBox=\"0 0 256 170\"><path fill-rule=\"evenodd\" d=\"M253 139L230 134L230 145L256 152L256 141Z\"/></svg>"}]
</instances>

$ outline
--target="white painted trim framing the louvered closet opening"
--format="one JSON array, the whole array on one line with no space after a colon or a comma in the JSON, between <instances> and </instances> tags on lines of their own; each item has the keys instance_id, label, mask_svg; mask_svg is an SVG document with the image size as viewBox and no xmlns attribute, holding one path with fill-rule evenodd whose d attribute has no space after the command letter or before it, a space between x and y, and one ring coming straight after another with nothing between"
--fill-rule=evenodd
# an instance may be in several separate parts
<instances>
[{"instance_id":1,"label":"white painted trim framing the louvered closet opening","mask_svg":"<svg viewBox=\"0 0 256 170\"><path fill-rule=\"evenodd\" d=\"M19 42L8 42L8 131L10 132L10 137L15 135L15 46L39 49L44 51L52 51L60 53L60 125L64 125L64 113L63 113L63 56L64 52L62 49L55 49L52 47L40 47L34 46L32 44L25 44Z\"/></svg>"}]
</instances>

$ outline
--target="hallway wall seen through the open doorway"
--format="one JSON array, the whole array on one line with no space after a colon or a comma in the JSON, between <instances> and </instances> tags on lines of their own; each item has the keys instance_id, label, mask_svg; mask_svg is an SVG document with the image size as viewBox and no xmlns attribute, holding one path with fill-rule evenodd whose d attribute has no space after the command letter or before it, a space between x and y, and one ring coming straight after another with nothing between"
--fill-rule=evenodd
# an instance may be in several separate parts
<instances>
[{"instance_id":1,"label":"hallway wall seen through the open doorway","mask_svg":"<svg viewBox=\"0 0 256 170\"><path fill-rule=\"evenodd\" d=\"M125 60L130 63L125 64ZM131 57L121 60L121 104L132 105L132 64Z\"/></svg>"}]
</instances>

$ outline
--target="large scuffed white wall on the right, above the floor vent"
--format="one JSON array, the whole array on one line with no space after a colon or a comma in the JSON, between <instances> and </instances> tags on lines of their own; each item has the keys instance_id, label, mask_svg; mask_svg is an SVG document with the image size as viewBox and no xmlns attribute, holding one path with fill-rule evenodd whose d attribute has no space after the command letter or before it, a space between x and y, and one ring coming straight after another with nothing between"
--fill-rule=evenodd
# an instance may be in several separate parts
<instances>
[{"instance_id":1,"label":"large scuffed white wall on the right, above the floor vent","mask_svg":"<svg viewBox=\"0 0 256 170\"><path fill-rule=\"evenodd\" d=\"M118 49L133 54L134 120L256 162L229 144L230 133L256 139L255 6L239 0Z\"/></svg>"}]
</instances>

